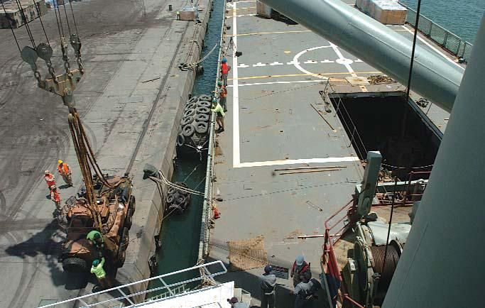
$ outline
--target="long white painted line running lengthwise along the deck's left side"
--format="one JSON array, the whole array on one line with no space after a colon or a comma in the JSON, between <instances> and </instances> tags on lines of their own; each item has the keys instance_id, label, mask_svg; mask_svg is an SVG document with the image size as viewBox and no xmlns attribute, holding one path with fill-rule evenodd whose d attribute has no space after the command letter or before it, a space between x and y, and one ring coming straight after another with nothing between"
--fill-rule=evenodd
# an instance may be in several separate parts
<instances>
[{"instance_id":1,"label":"long white painted line running lengthwise along the deck's left side","mask_svg":"<svg viewBox=\"0 0 485 308\"><path fill-rule=\"evenodd\" d=\"M234 9L236 9L236 3L234 2ZM232 31L234 46L237 48L237 17L236 10L232 11ZM241 163L241 153L239 148L239 81L237 75L237 57L236 48L232 51L232 122L234 123L232 128L232 164L239 165Z\"/></svg>"}]
</instances>

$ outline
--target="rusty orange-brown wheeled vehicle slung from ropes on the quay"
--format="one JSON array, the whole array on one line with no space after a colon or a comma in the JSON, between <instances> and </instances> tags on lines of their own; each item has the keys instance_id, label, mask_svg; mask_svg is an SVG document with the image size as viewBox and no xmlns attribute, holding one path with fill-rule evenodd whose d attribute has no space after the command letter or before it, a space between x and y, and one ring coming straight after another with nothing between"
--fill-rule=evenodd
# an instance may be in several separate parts
<instances>
[{"instance_id":1,"label":"rusty orange-brown wheeled vehicle slung from ropes on the quay","mask_svg":"<svg viewBox=\"0 0 485 308\"><path fill-rule=\"evenodd\" d=\"M126 258L129 229L136 207L135 197L131 195L131 179L128 175L104 175L103 180L94 175L92 179L96 201L94 206L97 207L95 210L99 213L102 225L96 227L92 209L82 190L78 194L80 197L73 196L66 202L60 224L67 236L59 256L66 272L89 272L92 261L102 257L111 268L121 268ZM102 233L102 246L96 246L87 239L87 233L93 230Z\"/></svg>"}]
</instances>

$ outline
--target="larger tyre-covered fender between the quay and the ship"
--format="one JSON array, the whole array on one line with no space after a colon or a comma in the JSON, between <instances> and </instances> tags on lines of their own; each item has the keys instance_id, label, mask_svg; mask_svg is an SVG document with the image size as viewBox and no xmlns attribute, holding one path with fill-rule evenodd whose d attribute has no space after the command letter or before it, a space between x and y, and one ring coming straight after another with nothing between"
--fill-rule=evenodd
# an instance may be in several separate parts
<instances>
[{"instance_id":1,"label":"larger tyre-covered fender between the quay and the ship","mask_svg":"<svg viewBox=\"0 0 485 308\"><path fill-rule=\"evenodd\" d=\"M177 136L179 153L194 153L197 149L207 148L211 101L212 97L202 94L185 104Z\"/></svg>"}]
</instances>

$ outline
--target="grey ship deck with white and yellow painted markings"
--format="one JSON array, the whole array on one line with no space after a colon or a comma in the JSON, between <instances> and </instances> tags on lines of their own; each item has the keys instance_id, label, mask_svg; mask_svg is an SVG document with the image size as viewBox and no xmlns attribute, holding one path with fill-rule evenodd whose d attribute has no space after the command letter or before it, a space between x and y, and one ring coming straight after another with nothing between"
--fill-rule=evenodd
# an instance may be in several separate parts
<instances>
[{"instance_id":1,"label":"grey ship deck with white and yellow painted markings","mask_svg":"<svg viewBox=\"0 0 485 308\"><path fill-rule=\"evenodd\" d=\"M352 5L354 1L346 1ZM226 42L243 54L227 57L231 72L225 131L217 141L214 189L222 213L210 236L210 258L229 263L228 241L263 236L268 263L290 268L305 255L314 277L321 273L322 238L300 235L325 233L324 222L349 202L364 169L339 117L324 111L319 91L327 82L339 92L405 91L400 84L351 85L346 77L382 75L300 25L256 16L256 1L228 3ZM408 26L389 26L412 38ZM419 35L418 44L451 55ZM233 52L229 46L228 55ZM420 98L411 93L411 99ZM322 117L312 108L322 111ZM431 104L423 109L445 131L449 114ZM418 107L420 108L420 107ZM371 150L371 149L369 149ZM341 166L329 172L280 175L277 168ZM231 252L231 254L233 254ZM234 255L233 255L234 257ZM262 268L221 276L251 292L258 305L257 276ZM278 279L276 307L293 307L293 283ZM326 296L322 294L320 301ZM320 306L323 307L323 306Z\"/></svg>"}]
</instances>

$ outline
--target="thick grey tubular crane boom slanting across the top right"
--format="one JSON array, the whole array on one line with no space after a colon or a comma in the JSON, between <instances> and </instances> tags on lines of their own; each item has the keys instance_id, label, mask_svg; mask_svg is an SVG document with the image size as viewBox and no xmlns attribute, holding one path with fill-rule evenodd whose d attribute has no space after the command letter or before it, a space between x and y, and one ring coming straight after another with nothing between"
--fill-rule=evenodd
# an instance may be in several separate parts
<instances>
[{"instance_id":1,"label":"thick grey tubular crane boom slanting across the top right","mask_svg":"<svg viewBox=\"0 0 485 308\"><path fill-rule=\"evenodd\" d=\"M378 70L407 84L412 42L339 0L261 0ZM413 91L451 111L464 70L416 46Z\"/></svg>"}]
</instances>

